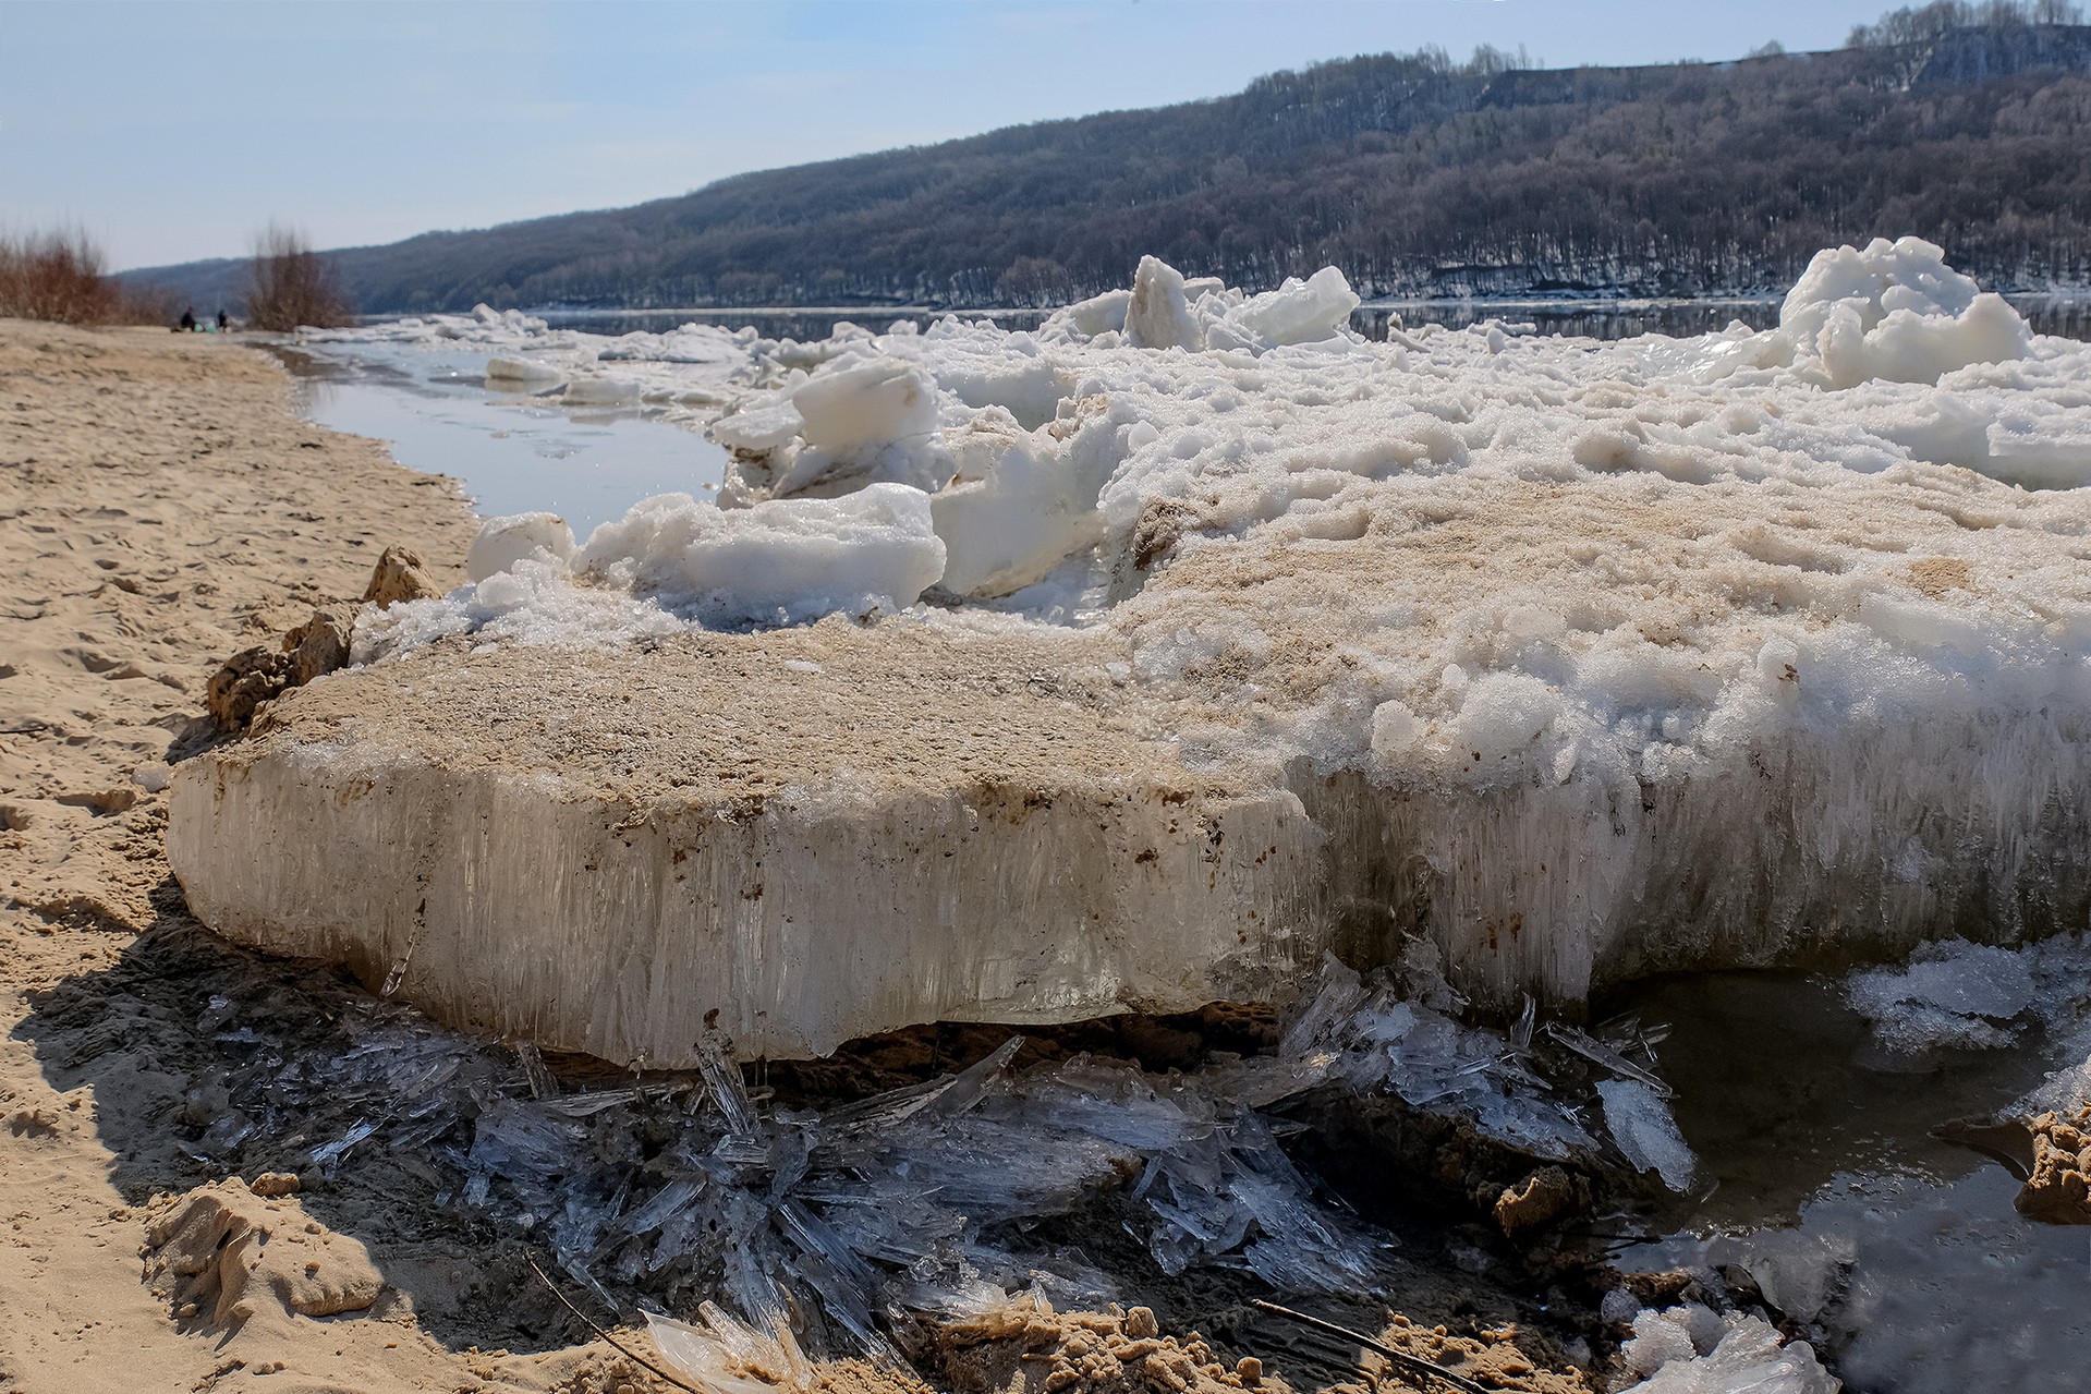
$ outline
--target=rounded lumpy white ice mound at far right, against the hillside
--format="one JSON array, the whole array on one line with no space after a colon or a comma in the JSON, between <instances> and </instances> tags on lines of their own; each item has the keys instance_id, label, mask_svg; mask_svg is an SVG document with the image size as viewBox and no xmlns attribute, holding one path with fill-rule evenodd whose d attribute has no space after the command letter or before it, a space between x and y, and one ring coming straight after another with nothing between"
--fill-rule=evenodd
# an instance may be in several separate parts
<instances>
[{"instance_id":1,"label":"rounded lumpy white ice mound at far right, against the hillside","mask_svg":"<svg viewBox=\"0 0 2091 1394\"><path fill-rule=\"evenodd\" d=\"M1953 368L2032 352L2018 310L1917 237L1817 251L1779 306L1777 333L1796 358L1817 360L1832 387L1936 383Z\"/></svg>"}]
</instances>

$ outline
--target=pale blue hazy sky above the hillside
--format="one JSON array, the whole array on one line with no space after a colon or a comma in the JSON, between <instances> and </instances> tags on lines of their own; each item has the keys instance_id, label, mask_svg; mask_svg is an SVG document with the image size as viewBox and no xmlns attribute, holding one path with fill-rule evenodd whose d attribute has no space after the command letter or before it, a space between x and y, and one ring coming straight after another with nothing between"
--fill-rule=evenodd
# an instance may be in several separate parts
<instances>
[{"instance_id":1,"label":"pale blue hazy sky above the hillside","mask_svg":"<svg viewBox=\"0 0 2091 1394\"><path fill-rule=\"evenodd\" d=\"M1476 44L1836 48L1884 0L0 0L0 232L113 270L619 207L728 174Z\"/></svg>"}]
</instances>

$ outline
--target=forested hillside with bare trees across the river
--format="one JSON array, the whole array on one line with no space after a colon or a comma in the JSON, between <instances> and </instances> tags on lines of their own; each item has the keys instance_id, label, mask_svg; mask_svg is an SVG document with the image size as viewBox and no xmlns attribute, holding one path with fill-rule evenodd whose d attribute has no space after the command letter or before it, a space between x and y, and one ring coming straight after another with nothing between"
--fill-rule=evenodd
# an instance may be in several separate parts
<instances>
[{"instance_id":1,"label":"forested hillside with bare trees across the river","mask_svg":"<svg viewBox=\"0 0 2091 1394\"><path fill-rule=\"evenodd\" d=\"M2091 283L2091 27L1993 13L1928 6L1836 52L1715 65L1349 59L332 260L364 312L1058 303L1148 251L1244 287L1334 264L1365 295L1704 293L1903 232L1991 285ZM136 274L217 303L243 272Z\"/></svg>"}]
</instances>

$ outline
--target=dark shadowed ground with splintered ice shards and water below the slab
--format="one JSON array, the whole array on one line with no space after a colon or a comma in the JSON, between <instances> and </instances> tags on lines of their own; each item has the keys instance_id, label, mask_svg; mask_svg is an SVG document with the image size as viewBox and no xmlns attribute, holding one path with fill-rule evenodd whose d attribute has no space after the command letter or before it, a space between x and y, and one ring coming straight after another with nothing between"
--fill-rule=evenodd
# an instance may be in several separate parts
<instances>
[{"instance_id":1,"label":"dark shadowed ground with splintered ice shards and water below the slab","mask_svg":"<svg viewBox=\"0 0 2091 1394\"><path fill-rule=\"evenodd\" d=\"M1290 1021L941 1026L818 1063L634 1074L169 925L23 1034L69 1074L144 1053L192 1076L180 1116L105 1120L128 1193L291 1170L316 1216L406 1256L406 1285L412 1254L483 1271L460 1308L422 1312L452 1342L577 1335L533 1291L537 1254L604 1319L723 1298L755 1325L788 1312L815 1352L884 1358L1022 1291L1140 1302L1269 1358L1288 1333L1248 1298L1355 1325L1378 1294L1518 1323L1562 1369L1604 1361L1627 1308L1683 1296L1765 1310L1857 1390L2083 1367L2085 1231L2020 1220L2003 1168L1930 1137L2039 1084L2066 1013L2003 1024L2014 1049L1913 1059L1834 977L1694 975L1604 1007L1587 1032L1468 1026L1411 961L1332 967ZM1621 1082L1671 1091L1685 1191L1621 1147ZM1491 1201L1549 1160L1589 1208L1508 1239Z\"/></svg>"}]
</instances>

